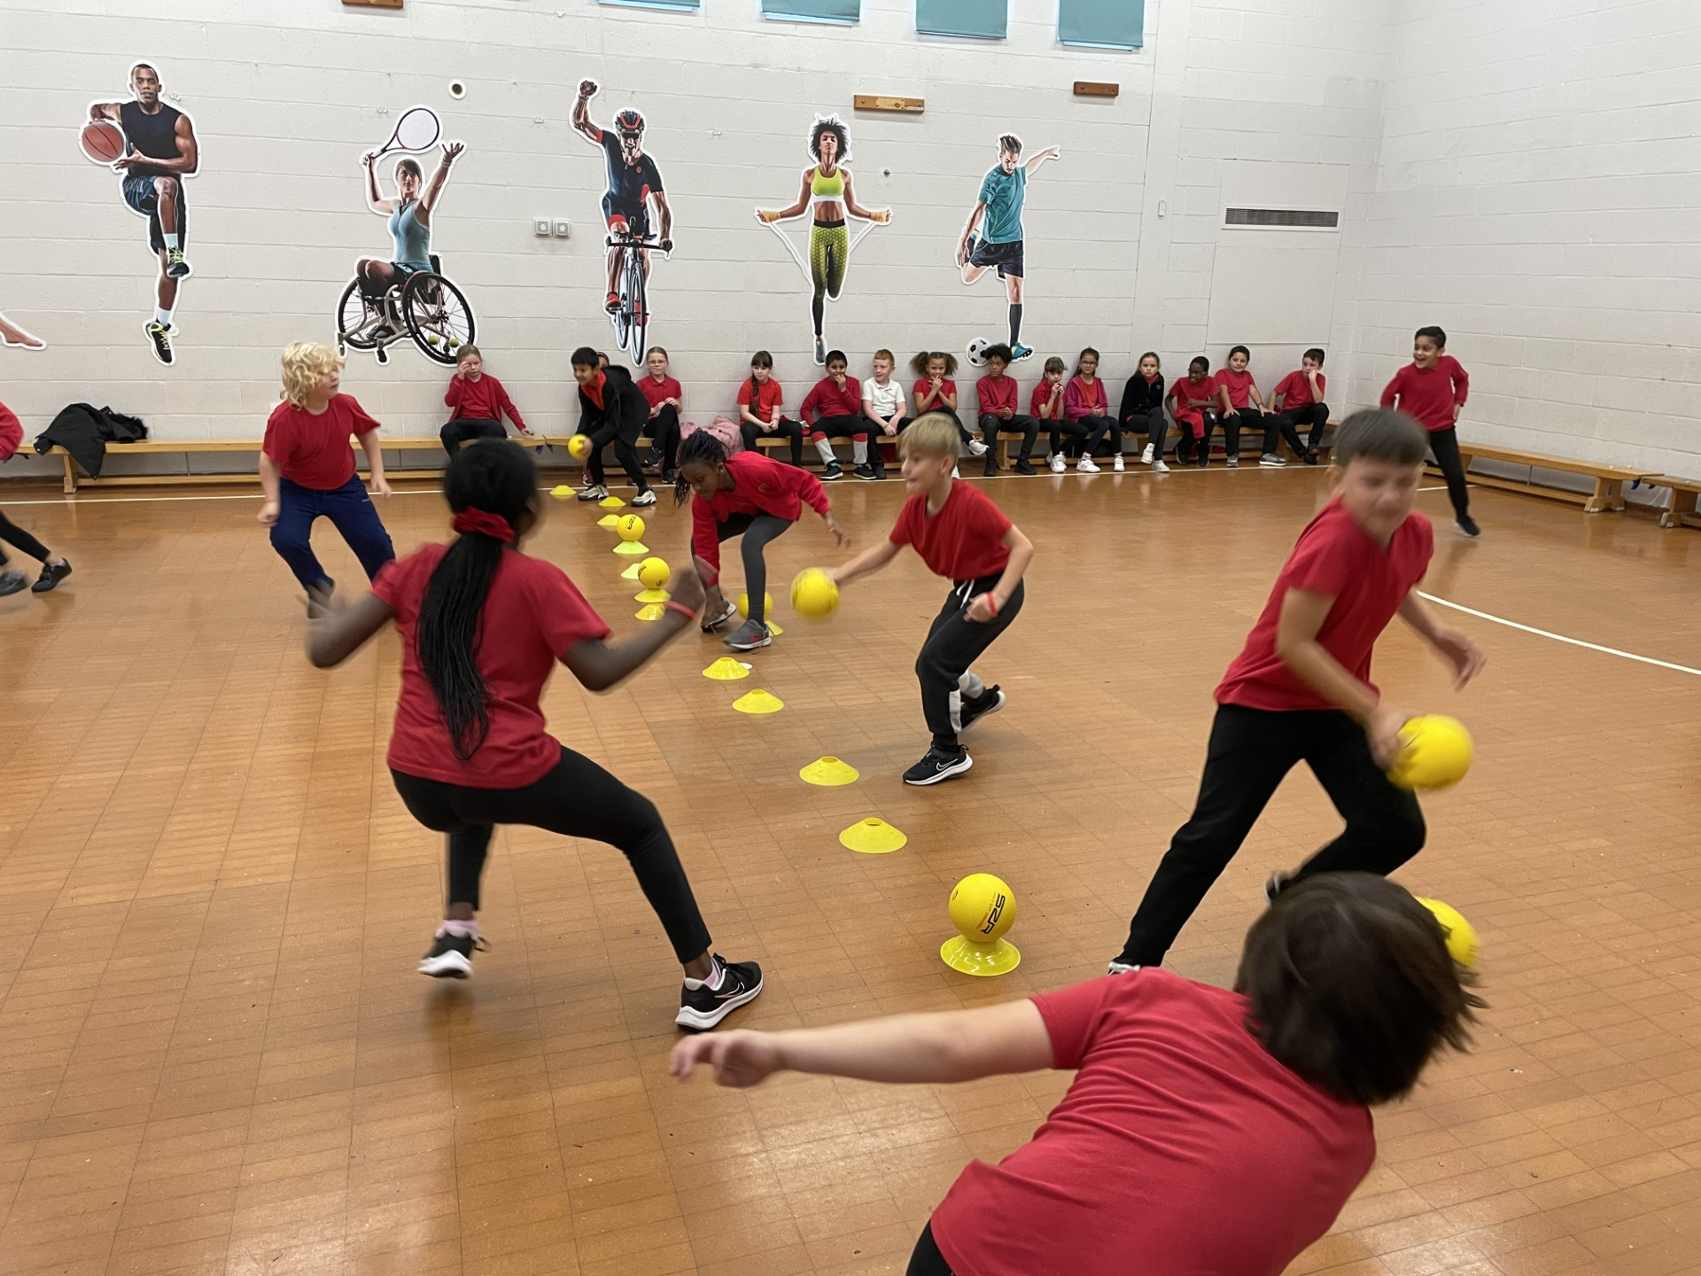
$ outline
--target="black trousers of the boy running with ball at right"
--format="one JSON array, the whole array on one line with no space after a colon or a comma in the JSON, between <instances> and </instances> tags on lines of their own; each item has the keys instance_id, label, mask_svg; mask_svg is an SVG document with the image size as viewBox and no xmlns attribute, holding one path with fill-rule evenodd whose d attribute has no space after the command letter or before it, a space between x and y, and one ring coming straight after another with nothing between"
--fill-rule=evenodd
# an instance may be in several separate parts
<instances>
[{"instance_id":1,"label":"black trousers of the boy running with ball at right","mask_svg":"<svg viewBox=\"0 0 1701 1276\"><path fill-rule=\"evenodd\" d=\"M1170 839L1118 961L1157 966L1228 868L1296 762L1305 762L1347 827L1298 876L1386 876L1424 849L1424 812L1371 757L1364 728L1339 709L1249 709L1220 704L1192 815Z\"/></svg>"}]
</instances>

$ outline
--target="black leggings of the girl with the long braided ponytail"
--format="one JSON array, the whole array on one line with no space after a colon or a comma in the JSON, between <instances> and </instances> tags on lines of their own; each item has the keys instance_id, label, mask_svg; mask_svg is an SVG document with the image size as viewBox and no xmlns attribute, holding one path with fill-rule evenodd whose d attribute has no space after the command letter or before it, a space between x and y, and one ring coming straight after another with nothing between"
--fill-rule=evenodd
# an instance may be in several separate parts
<instances>
[{"instance_id":1,"label":"black leggings of the girl with the long braided ponytail","mask_svg":"<svg viewBox=\"0 0 1701 1276\"><path fill-rule=\"evenodd\" d=\"M391 771L396 793L415 820L449 834L449 903L478 910L478 878L485 871L490 835L498 823L529 823L563 837L607 842L626 854L638 886L662 919L680 965L709 951L691 881L674 851L674 839L651 803L621 784L589 757L561 749L561 760L522 789L473 789Z\"/></svg>"}]
</instances>

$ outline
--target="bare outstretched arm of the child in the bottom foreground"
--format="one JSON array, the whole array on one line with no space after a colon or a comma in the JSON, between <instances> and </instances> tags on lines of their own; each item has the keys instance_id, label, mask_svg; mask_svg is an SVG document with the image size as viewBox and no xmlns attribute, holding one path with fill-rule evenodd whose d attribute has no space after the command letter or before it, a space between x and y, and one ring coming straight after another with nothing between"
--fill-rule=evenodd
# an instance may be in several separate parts
<instances>
[{"instance_id":1,"label":"bare outstretched arm of the child in the bottom foreground","mask_svg":"<svg viewBox=\"0 0 1701 1276\"><path fill-rule=\"evenodd\" d=\"M721 1085L813 1072L898 1085L976 1080L1053 1067L1051 1034L1031 1000L946 1014L900 1014L791 1033L713 1033L674 1046L668 1074L703 1063Z\"/></svg>"}]
</instances>

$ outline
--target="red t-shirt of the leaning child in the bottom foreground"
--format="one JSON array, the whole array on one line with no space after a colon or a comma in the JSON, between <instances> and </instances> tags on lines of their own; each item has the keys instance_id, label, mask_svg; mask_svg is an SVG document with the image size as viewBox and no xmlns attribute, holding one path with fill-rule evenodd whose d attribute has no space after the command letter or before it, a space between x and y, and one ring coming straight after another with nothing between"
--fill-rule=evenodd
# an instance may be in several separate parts
<instances>
[{"instance_id":1,"label":"red t-shirt of the leaning child in the bottom foreground","mask_svg":"<svg viewBox=\"0 0 1701 1276\"><path fill-rule=\"evenodd\" d=\"M1371 1113L1277 1063L1247 999L1167 970L1034 997L1078 1068L1031 1142L973 1160L934 1242L973 1276L1279 1276L1376 1159Z\"/></svg>"}]
</instances>

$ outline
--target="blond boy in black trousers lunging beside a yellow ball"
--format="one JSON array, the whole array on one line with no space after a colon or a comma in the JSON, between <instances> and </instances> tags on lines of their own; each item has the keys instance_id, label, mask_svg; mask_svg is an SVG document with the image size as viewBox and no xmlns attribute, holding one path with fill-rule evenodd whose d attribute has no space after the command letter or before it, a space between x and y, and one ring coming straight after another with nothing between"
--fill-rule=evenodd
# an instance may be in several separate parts
<instances>
[{"instance_id":1,"label":"blond boy in black trousers lunging beside a yellow ball","mask_svg":"<svg viewBox=\"0 0 1701 1276\"><path fill-rule=\"evenodd\" d=\"M975 766L958 733L1002 709L1004 692L985 686L970 665L1022 609L1022 572L1034 556L1033 543L990 497L951 476L958 439L956 420L942 412L915 419L898 437L910 498L891 536L828 572L844 585L878 572L912 544L929 568L953 582L915 657L922 713L934 738L927 755L903 772L905 784L937 784Z\"/></svg>"}]
</instances>

